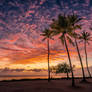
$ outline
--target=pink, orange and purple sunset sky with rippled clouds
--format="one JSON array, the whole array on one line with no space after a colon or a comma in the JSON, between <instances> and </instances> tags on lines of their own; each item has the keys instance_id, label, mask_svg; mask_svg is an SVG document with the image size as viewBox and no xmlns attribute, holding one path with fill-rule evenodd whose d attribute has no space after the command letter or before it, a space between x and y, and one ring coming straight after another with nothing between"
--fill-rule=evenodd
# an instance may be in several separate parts
<instances>
[{"instance_id":1,"label":"pink, orange and purple sunset sky with rippled clouds","mask_svg":"<svg viewBox=\"0 0 92 92\"><path fill-rule=\"evenodd\" d=\"M40 36L58 14L78 14L82 29L91 32L92 0L0 0L0 75L36 75L47 72L47 43ZM72 64L80 67L75 47L68 43ZM79 43L85 66L83 43ZM87 45L92 66L92 42ZM50 40L50 66L67 62L58 37Z\"/></svg>"}]
</instances>

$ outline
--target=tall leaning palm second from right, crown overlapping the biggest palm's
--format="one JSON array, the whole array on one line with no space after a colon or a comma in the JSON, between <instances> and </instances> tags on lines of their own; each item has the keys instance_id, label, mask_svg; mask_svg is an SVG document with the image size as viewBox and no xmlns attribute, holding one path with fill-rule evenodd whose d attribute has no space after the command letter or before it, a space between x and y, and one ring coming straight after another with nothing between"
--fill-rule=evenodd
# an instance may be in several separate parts
<instances>
[{"instance_id":1,"label":"tall leaning palm second from right, crown overlapping the biggest palm's","mask_svg":"<svg viewBox=\"0 0 92 92\"><path fill-rule=\"evenodd\" d=\"M68 16L68 18L69 18L70 24L72 26L72 30L74 30L74 36L73 37L75 39L75 46L76 46L76 50L77 50L77 53L78 53L78 56L79 56L79 60L80 60L81 68L82 68L82 73L83 73L83 80L82 81L85 82L86 78L85 78L84 66L83 66L83 62L82 62L82 58L81 58L81 55L80 55L79 46L78 46L78 42L77 42L77 38L78 38L79 35L77 33L75 33L76 29L81 29L81 25L79 25L78 23L80 22L80 20L82 20L82 18L79 18L75 14Z\"/></svg>"}]
</instances>

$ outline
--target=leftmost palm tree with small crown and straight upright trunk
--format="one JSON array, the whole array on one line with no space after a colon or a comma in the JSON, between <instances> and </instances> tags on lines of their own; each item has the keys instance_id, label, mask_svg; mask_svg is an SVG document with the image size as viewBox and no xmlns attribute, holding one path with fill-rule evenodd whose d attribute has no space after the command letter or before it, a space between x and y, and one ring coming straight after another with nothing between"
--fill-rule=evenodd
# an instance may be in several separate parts
<instances>
[{"instance_id":1,"label":"leftmost palm tree with small crown and straight upright trunk","mask_svg":"<svg viewBox=\"0 0 92 92\"><path fill-rule=\"evenodd\" d=\"M41 34L44 36L43 40L47 40L47 48L48 48L48 82L50 81L50 65L49 65L49 57L50 57L50 47L49 47L49 40L52 39L52 31L49 29L45 29L43 33Z\"/></svg>"}]
</instances>

